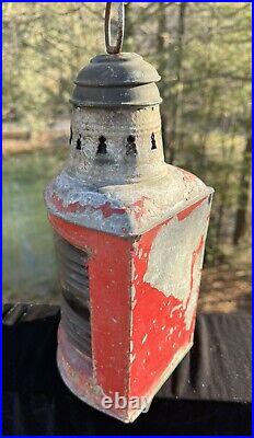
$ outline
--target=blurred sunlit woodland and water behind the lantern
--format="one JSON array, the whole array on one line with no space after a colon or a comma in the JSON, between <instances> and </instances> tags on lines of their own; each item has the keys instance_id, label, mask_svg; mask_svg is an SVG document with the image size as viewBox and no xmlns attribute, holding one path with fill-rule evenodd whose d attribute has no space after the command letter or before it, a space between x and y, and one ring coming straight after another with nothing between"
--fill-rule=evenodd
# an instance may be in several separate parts
<instances>
[{"instance_id":1,"label":"blurred sunlit woodland and water behind the lantern","mask_svg":"<svg viewBox=\"0 0 254 438\"><path fill-rule=\"evenodd\" d=\"M105 51L104 7L3 4L7 301L58 301L43 189L68 155L73 79ZM250 311L251 3L128 2L124 50L162 77L166 161L216 189L200 309Z\"/></svg>"}]
</instances>

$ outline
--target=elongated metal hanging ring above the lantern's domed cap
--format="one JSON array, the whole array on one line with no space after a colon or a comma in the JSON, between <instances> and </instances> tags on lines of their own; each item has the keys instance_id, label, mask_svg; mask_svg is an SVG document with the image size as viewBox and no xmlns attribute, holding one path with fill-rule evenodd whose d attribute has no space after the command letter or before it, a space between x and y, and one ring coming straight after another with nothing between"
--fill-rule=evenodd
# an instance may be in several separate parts
<instances>
[{"instance_id":1,"label":"elongated metal hanging ring above the lantern's domed cap","mask_svg":"<svg viewBox=\"0 0 254 438\"><path fill-rule=\"evenodd\" d=\"M115 46L112 46L111 44L111 7L112 2L107 2L105 10L105 45L107 54L116 55L120 53L123 47L125 32L125 3L119 3L118 5L117 36Z\"/></svg>"}]
</instances>

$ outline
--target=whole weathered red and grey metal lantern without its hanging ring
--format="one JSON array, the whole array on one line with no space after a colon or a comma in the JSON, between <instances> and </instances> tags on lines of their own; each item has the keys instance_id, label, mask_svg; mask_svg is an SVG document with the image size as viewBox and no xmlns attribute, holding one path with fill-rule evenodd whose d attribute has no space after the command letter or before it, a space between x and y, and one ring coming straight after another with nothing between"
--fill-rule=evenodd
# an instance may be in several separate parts
<instances>
[{"instance_id":1,"label":"whole weathered red and grey metal lantern without its hanging ring","mask_svg":"<svg viewBox=\"0 0 254 438\"><path fill-rule=\"evenodd\" d=\"M136 54L92 59L71 100L70 159L45 193L62 286L60 373L124 422L192 347L212 194L164 162L159 79ZM105 396L128 403L106 408Z\"/></svg>"}]
</instances>

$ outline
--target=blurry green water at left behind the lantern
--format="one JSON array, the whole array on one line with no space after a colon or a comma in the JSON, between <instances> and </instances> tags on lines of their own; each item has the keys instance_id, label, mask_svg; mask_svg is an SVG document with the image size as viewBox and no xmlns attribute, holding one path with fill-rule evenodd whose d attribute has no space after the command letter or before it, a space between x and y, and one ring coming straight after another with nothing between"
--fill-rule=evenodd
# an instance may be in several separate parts
<instances>
[{"instance_id":1,"label":"blurry green water at left behind the lantern","mask_svg":"<svg viewBox=\"0 0 254 438\"><path fill-rule=\"evenodd\" d=\"M43 192L64 163L62 148L3 159L4 301L56 302L58 281Z\"/></svg>"}]
</instances>

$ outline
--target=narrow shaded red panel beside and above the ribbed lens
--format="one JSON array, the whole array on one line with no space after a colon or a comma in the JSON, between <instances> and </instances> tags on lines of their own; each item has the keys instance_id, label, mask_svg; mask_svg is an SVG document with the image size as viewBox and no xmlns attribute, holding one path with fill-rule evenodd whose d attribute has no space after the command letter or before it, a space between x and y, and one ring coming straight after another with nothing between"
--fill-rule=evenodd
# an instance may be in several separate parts
<instances>
[{"instance_id":1,"label":"narrow shaded red panel beside and above the ribbed lens","mask_svg":"<svg viewBox=\"0 0 254 438\"><path fill-rule=\"evenodd\" d=\"M105 393L113 391L125 395L129 367L131 241L68 223L53 215L49 220L69 243L91 252L89 273L95 376Z\"/></svg>"}]
</instances>

